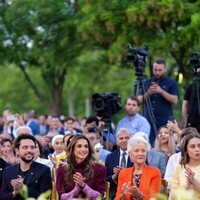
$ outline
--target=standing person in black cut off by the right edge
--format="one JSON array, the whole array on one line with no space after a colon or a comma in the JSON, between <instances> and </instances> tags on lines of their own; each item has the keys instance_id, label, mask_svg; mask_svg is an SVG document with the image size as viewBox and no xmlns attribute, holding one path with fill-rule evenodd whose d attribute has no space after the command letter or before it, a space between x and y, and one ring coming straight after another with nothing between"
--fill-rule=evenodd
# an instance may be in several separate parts
<instances>
[{"instance_id":1,"label":"standing person in black cut off by the right edge","mask_svg":"<svg viewBox=\"0 0 200 200\"><path fill-rule=\"evenodd\" d=\"M182 119L185 127L195 127L200 132L200 66L194 72L194 82L185 91L182 103Z\"/></svg>"}]
</instances>

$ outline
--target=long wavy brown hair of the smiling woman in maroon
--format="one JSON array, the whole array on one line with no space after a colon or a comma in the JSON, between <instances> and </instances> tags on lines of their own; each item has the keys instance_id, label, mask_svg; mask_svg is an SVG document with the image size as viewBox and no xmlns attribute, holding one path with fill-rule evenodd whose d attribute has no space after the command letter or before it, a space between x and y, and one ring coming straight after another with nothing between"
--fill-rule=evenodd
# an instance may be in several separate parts
<instances>
[{"instance_id":1,"label":"long wavy brown hair of the smiling woman in maroon","mask_svg":"<svg viewBox=\"0 0 200 200\"><path fill-rule=\"evenodd\" d=\"M70 144L67 147L67 165L65 167L65 181L66 184L69 184L71 181L73 181L73 175L76 172L75 171L75 165L76 160L74 156L74 146L79 140L86 140L88 143L89 153L86 157L84 163L84 177L86 179L91 179L93 177L93 165L95 163L95 157L94 157L94 149L91 147L90 142L88 138L86 138L84 135L75 135L71 140Z\"/></svg>"}]
</instances>

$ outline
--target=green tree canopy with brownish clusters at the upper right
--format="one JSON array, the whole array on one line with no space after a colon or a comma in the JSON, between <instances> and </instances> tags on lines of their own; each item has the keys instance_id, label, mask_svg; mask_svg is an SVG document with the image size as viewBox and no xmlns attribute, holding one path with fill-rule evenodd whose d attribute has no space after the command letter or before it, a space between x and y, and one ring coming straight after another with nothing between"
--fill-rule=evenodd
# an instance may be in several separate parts
<instances>
[{"instance_id":1,"label":"green tree canopy with brownish clusters at the upper right","mask_svg":"<svg viewBox=\"0 0 200 200\"><path fill-rule=\"evenodd\" d=\"M157 55L168 58L188 82L188 58L199 46L200 1L81 2L79 31L86 40L92 38L94 44L107 49L108 61L122 60L129 42L139 47L145 44L150 47L150 60Z\"/></svg>"}]
</instances>

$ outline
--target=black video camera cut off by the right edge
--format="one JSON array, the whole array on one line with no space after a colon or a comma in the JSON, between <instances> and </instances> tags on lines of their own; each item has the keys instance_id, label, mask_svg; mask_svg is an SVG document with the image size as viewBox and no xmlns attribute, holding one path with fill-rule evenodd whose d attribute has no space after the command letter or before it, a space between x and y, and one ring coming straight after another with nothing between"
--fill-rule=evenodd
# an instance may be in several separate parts
<instances>
[{"instance_id":1,"label":"black video camera cut off by the right edge","mask_svg":"<svg viewBox=\"0 0 200 200\"><path fill-rule=\"evenodd\" d=\"M200 76L200 52L193 52L190 57L189 66L192 68L193 76Z\"/></svg>"}]
</instances>

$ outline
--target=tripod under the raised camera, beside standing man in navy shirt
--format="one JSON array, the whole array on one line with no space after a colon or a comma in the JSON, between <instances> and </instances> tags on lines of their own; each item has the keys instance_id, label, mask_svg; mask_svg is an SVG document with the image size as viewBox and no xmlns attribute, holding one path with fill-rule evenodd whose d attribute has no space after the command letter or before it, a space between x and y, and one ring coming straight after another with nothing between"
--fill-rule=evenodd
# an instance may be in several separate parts
<instances>
[{"instance_id":1,"label":"tripod under the raised camera, beside standing man in navy shirt","mask_svg":"<svg viewBox=\"0 0 200 200\"><path fill-rule=\"evenodd\" d=\"M145 94L146 92L147 92L147 88L145 85L144 76L137 76L137 79L133 83L132 95L137 97L139 94ZM151 100L149 96L146 97L146 101L144 101L144 105L145 105L144 107L147 109L147 113L149 115L150 123L152 124L154 133L156 134L157 132L156 119L152 110Z\"/></svg>"}]
</instances>

